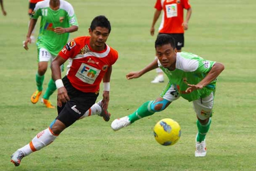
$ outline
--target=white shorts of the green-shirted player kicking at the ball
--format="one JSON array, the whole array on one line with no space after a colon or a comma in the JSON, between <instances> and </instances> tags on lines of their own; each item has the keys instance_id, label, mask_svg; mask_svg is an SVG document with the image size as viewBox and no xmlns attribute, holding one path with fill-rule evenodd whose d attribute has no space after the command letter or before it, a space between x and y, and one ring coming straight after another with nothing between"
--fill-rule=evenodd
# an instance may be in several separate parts
<instances>
[{"instance_id":1,"label":"white shorts of the green-shirted player kicking at the ball","mask_svg":"<svg viewBox=\"0 0 256 171\"><path fill-rule=\"evenodd\" d=\"M163 89L163 92L160 94L160 97L172 102L177 100L180 97L180 94L174 89L174 86L171 85L170 82L168 82L165 89ZM212 116L213 101L214 101L213 92L207 97L192 101L193 108L199 119L205 120Z\"/></svg>"}]
</instances>

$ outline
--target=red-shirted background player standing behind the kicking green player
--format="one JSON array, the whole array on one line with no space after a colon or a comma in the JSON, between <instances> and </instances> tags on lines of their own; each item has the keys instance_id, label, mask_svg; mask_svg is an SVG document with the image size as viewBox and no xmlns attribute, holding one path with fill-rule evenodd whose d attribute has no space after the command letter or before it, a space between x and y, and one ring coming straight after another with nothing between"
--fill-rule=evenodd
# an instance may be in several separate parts
<instances>
[{"instance_id":1,"label":"red-shirted background player standing behind the kicking green player","mask_svg":"<svg viewBox=\"0 0 256 171\"><path fill-rule=\"evenodd\" d=\"M155 33L155 23L163 10L163 18L159 27L159 34L170 34L176 42L177 52L181 52L184 47L184 30L188 30L188 20L192 9L188 0L157 0L155 3L155 14L150 28L151 36ZM183 10L187 10L185 21L183 20ZM156 56L155 56L156 58ZM163 71L156 69L158 75L152 83L163 82Z\"/></svg>"}]
</instances>

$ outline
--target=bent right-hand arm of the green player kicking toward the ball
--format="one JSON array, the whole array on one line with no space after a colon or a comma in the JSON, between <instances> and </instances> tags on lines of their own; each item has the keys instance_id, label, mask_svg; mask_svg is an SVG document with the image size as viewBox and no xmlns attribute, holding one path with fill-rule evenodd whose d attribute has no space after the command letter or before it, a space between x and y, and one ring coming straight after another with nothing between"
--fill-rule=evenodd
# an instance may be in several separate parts
<instances>
[{"instance_id":1,"label":"bent right-hand arm of the green player kicking toward the ball","mask_svg":"<svg viewBox=\"0 0 256 171\"><path fill-rule=\"evenodd\" d=\"M186 90L186 93L191 93L192 91L196 89L202 89L206 85L210 84L221 72L224 70L224 65L222 63L216 62L212 69L209 71L209 73L206 75L202 81L200 81L196 85L188 84L188 89Z\"/></svg>"}]
</instances>

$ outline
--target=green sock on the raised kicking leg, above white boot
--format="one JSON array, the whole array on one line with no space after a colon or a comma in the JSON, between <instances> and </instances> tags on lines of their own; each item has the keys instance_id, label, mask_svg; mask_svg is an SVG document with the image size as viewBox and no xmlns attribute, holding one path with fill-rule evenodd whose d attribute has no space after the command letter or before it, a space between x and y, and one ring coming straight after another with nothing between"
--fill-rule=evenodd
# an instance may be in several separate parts
<instances>
[{"instance_id":1,"label":"green sock on the raised kicking leg, above white boot","mask_svg":"<svg viewBox=\"0 0 256 171\"><path fill-rule=\"evenodd\" d=\"M154 114L155 112L150 110L150 105L153 101L147 101L143 105L141 105L134 113L130 114L129 121L133 123L134 121L137 121L143 117L150 116Z\"/></svg>"}]
</instances>

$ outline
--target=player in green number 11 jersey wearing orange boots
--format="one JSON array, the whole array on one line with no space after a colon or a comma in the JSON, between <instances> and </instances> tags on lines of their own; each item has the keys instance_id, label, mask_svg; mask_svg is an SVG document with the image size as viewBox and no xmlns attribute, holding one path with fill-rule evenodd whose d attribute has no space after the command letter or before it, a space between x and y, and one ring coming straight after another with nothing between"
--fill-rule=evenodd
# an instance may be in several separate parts
<instances>
[{"instance_id":1,"label":"player in green number 11 jersey wearing orange boots","mask_svg":"<svg viewBox=\"0 0 256 171\"><path fill-rule=\"evenodd\" d=\"M54 59L67 43L69 33L78 30L76 15L70 3L64 0L38 2L31 14L27 39L23 44L26 50L28 50L28 43L31 43L30 36L39 16L41 16L40 31L36 42L38 52L37 90L31 96L31 102L34 104L38 102L43 90L44 74L47 70L48 61ZM69 45L68 47L72 48L72 46L75 45ZM42 98L47 108L55 108L49 101L55 90L55 82L51 79Z\"/></svg>"}]
</instances>

